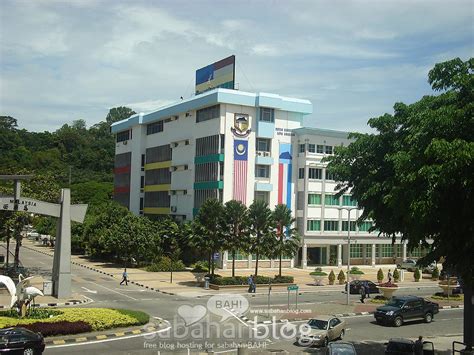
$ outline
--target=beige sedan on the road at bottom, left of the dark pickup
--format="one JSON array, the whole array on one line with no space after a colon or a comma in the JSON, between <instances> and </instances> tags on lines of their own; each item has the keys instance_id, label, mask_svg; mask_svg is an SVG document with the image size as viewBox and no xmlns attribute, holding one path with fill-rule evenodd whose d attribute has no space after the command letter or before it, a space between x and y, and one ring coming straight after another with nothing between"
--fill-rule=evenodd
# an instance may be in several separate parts
<instances>
[{"instance_id":1,"label":"beige sedan on the road at bottom, left of the dark pickup","mask_svg":"<svg viewBox=\"0 0 474 355\"><path fill-rule=\"evenodd\" d=\"M342 340L345 333L345 321L334 316L319 316L306 323L305 331L297 335L296 341L306 346L327 346L332 340Z\"/></svg>"}]
</instances>

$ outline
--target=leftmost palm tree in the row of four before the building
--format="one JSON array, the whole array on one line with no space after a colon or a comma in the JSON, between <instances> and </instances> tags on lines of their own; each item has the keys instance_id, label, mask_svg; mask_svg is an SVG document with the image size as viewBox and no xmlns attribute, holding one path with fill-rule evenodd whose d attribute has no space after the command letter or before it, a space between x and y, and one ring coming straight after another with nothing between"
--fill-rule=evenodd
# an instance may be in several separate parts
<instances>
[{"instance_id":1,"label":"leftmost palm tree in the row of four before the building","mask_svg":"<svg viewBox=\"0 0 474 355\"><path fill-rule=\"evenodd\" d=\"M193 239L201 250L208 253L209 269L214 276L212 256L224 245L224 234L220 228L224 206L215 198L206 200L193 221Z\"/></svg>"}]
</instances>

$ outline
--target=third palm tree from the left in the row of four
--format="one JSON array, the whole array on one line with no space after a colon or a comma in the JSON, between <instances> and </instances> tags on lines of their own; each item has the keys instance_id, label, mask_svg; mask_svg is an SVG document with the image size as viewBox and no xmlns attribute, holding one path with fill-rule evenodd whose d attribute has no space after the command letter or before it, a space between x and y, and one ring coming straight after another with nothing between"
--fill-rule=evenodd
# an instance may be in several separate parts
<instances>
[{"instance_id":1,"label":"third palm tree from the left in the row of four","mask_svg":"<svg viewBox=\"0 0 474 355\"><path fill-rule=\"evenodd\" d=\"M265 201L254 201L249 207L250 233L252 243L250 252L255 254L255 276L258 273L258 260L269 254L275 243L272 211Z\"/></svg>"}]
</instances>

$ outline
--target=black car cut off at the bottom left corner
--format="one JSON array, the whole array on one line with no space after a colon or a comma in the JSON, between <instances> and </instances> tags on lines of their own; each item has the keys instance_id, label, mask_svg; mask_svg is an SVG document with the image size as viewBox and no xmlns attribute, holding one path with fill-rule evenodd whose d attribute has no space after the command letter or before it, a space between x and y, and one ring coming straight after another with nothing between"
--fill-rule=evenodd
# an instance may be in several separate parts
<instances>
[{"instance_id":1,"label":"black car cut off at the bottom left corner","mask_svg":"<svg viewBox=\"0 0 474 355\"><path fill-rule=\"evenodd\" d=\"M0 353L36 355L44 351L44 338L26 328L0 329Z\"/></svg>"}]
</instances>

